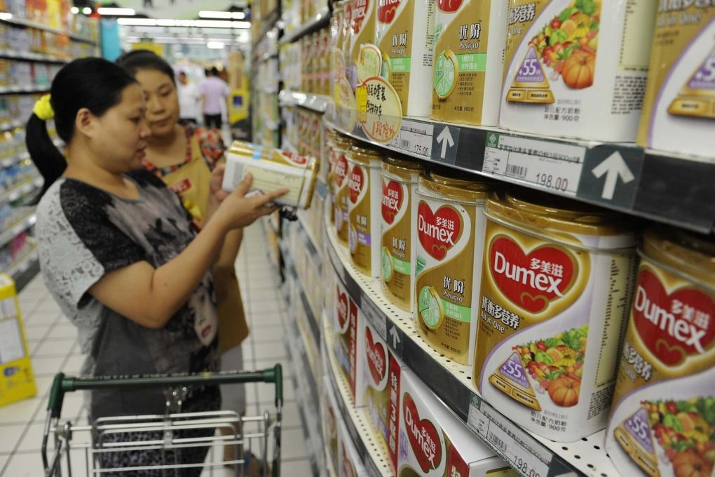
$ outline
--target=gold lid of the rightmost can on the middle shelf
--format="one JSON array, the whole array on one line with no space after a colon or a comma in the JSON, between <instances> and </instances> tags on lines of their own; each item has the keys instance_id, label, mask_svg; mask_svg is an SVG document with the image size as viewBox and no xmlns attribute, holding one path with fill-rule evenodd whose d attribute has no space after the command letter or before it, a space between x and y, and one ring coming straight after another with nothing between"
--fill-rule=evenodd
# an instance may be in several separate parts
<instances>
[{"instance_id":1,"label":"gold lid of the rightmost can on the middle shelf","mask_svg":"<svg viewBox=\"0 0 715 477\"><path fill-rule=\"evenodd\" d=\"M643 251L657 262L715 286L715 237L657 225L646 230Z\"/></svg>"}]
</instances>

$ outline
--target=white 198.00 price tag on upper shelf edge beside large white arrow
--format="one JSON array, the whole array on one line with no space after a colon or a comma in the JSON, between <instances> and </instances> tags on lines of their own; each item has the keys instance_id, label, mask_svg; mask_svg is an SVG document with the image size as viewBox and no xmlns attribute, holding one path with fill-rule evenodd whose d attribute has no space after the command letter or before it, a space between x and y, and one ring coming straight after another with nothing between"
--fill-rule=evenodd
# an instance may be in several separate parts
<instances>
[{"instance_id":1,"label":"white 198.00 price tag on upper shelf edge beside large white arrow","mask_svg":"<svg viewBox=\"0 0 715 477\"><path fill-rule=\"evenodd\" d=\"M584 157L586 147L576 144L493 132L487 134L483 172L575 196Z\"/></svg>"}]
</instances>

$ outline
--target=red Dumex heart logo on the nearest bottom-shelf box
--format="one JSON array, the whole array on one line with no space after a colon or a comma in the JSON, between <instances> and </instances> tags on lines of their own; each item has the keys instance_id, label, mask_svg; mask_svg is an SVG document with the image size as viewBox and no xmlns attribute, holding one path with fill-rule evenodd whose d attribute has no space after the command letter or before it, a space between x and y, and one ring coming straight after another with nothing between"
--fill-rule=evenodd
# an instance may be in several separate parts
<instances>
[{"instance_id":1,"label":"red Dumex heart logo on the nearest bottom-shelf box","mask_svg":"<svg viewBox=\"0 0 715 477\"><path fill-rule=\"evenodd\" d=\"M436 469L442 461L442 444L437 429L430 421L420 420L417 406L410 393L403 394L405 428L412 451L424 473Z\"/></svg>"}]
</instances>

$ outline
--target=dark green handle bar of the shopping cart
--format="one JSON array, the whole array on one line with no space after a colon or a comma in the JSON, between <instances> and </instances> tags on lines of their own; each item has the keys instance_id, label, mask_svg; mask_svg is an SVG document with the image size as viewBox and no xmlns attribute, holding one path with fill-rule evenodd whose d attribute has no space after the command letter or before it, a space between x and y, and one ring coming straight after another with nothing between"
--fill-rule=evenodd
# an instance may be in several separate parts
<instances>
[{"instance_id":1,"label":"dark green handle bar of the shopping cart","mask_svg":"<svg viewBox=\"0 0 715 477\"><path fill-rule=\"evenodd\" d=\"M222 371L220 373L100 376L97 378L75 378L57 373L52 382L47 411L53 418L59 418L64 402L64 394L75 390L129 389L129 388L169 388L187 385L219 385L231 383L275 383L275 404L283 403L283 369L280 364L262 371Z\"/></svg>"}]
</instances>

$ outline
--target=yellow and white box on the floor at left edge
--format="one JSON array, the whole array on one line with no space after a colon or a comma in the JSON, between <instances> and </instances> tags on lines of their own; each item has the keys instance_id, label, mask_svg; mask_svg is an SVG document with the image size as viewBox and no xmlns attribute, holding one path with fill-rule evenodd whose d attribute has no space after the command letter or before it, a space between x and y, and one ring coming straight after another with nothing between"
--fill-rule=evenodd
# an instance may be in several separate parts
<instances>
[{"instance_id":1,"label":"yellow and white box on the floor at left edge","mask_svg":"<svg viewBox=\"0 0 715 477\"><path fill-rule=\"evenodd\" d=\"M36 394L15 283L0 273L0 405Z\"/></svg>"}]
</instances>

